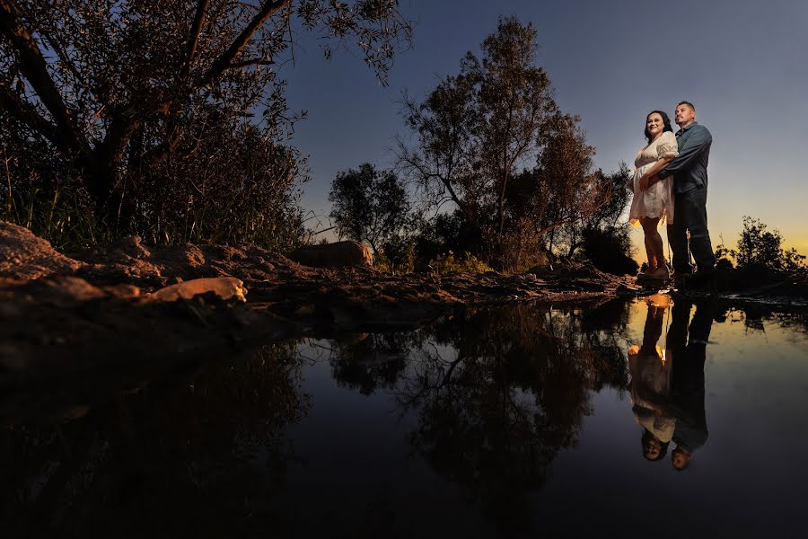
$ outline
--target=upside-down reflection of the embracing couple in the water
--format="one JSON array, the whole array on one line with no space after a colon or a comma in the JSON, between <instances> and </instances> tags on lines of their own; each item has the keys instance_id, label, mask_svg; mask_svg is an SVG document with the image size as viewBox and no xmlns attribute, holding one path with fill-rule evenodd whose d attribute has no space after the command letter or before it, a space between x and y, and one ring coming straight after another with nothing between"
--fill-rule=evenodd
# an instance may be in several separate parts
<instances>
[{"instance_id":1,"label":"upside-down reflection of the embracing couple in the water","mask_svg":"<svg viewBox=\"0 0 808 539\"><path fill-rule=\"evenodd\" d=\"M672 444L671 464L681 471L707 442L704 363L716 308L709 303L695 305L690 320L692 301L677 300L671 307L668 296L651 296L646 303L642 344L628 349L632 411L643 429L643 456L661 461Z\"/></svg>"}]
</instances>

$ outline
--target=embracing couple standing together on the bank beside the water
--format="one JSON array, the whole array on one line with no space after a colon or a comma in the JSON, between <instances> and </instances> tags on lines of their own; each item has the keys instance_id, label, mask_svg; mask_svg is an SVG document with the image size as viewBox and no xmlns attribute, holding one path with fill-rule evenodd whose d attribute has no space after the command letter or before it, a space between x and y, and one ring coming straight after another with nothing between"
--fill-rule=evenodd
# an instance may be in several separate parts
<instances>
[{"instance_id":1,"label":"embracing couple standing together on the bank beside the water","mask_svg":"<svg viewBox=\"0 0 808 539\"><path fill-rule=\"evenodd\" d=\"M716 265L707 232L707 161L713 137L696 121L693 103L676 105L674 118L679 126L675 135L662 110L653 110L646 117L648 144L634 161L634 200L628 218L632 225L642 225L646 234L648 269L638 280L661 284L671 277L657 231L667 222L674 282L695 286L707 284ZM695 273L690 253L696 262Z\"/></svg>"}]
</instances>

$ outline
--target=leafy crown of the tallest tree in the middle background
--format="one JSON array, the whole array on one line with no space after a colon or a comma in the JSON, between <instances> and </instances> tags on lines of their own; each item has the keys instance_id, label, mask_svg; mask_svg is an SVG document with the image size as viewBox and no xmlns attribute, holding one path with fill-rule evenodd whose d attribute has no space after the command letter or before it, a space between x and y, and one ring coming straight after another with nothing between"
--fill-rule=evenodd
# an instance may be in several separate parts
<instances>
[{"instance_id":1,"label":"leafy crown of the tallest tree in the middle background","mask_svg":"<svg viewBox=\"0 0 808 539\"><path fill-rule=\"evenodd\" d=\"M427 190L445 190L470 221L490 207L493 225L505 229L505 191L518 167L535 159L537 137L556 110L549 78L534 66L537 44L531 24L500 19L468 52L461 73L449 76L420 104L407 100L405 117L418 144L400 145L402 162Z\"/></svg>"}]
</instances>

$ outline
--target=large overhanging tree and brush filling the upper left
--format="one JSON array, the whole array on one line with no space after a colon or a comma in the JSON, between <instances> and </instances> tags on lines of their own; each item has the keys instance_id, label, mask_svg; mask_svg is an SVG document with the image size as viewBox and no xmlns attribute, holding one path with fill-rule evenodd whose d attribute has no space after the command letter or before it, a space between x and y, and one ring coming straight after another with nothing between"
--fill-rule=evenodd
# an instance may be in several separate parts
<instances>
[{"instance_id":1,"label":"large overhanging tree and brush filling the upper left","mask_svg":"<svg viewBox=\"0 0 808 539\"><path fill-rule=\"evenodd\" d=\"M411 30L395 0L3 0L4 218L58 237L43 215L64 212L76 243L288 241L306 175L279 69L298 28L326 56L356 42L382 82Z\"/></svg>"}]
</instances>

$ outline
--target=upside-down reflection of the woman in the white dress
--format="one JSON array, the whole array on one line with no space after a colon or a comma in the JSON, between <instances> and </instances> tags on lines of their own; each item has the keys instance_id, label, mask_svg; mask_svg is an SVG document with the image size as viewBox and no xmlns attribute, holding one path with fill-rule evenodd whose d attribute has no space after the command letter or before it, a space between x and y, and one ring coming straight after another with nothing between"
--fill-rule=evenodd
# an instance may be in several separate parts
<instances>
[{"instance_id":1,"label":"upside-down reflection of the woman in the white dress","mask_svg":"<svg viewBox=\"0 0 808 539\"><path fill-rule=\"evenodd\" d=\"M675 428L675 420L666 410L671 397L672 362L658 344L670 300L667 296L651 296L647 303L643 343L628 349L629 390L631 410L643 428L643 456L658 461L667 453Z\"/></svg>"}]
</instances>

